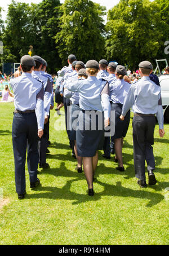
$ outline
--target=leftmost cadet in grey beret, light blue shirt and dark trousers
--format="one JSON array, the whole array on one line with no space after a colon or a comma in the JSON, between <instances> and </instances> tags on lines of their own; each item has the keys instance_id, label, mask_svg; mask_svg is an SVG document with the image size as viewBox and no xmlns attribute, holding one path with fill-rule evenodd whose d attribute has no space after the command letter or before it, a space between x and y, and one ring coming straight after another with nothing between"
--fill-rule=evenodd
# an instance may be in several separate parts
<instances>
[{"instance_id":1,"label":"leftmost cadet in grey beret, light blue shirt and dark trousers","mask_svg":"<svg viewBox=\"0 0 169 256\"><path fill-rule=\"evenodd\" d=\"M12 143L15 159L15 184L19 199L26 194L25 186L25 158L28 142L28 171L30 188L37 187L40 183L37 178L39 162L38 136L43 135L44 105L43 84L32 77L35 66L34 59L29 55L21 58L21 76L10 80L14 91L14 119L12 123ZM35 114L36 108L36 114ZM36 116L37 115L37 116Z\"/></svg>"}]
</instances>

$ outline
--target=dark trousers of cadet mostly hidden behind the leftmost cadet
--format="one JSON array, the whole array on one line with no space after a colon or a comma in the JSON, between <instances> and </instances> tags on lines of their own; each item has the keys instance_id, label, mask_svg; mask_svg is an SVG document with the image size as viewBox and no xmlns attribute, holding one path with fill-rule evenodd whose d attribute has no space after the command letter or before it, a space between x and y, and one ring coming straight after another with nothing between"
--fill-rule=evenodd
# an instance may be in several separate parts
<instances>
[{"instance_id":1,"label":"dark trousers of cadet mostly hidden behind the leftmost cadet","mask_svg":"<svg viewBox=\"0 0 169 256\"><path fill-rule=\"evenodd\" d=\"M39 139L39 163L41 165L46 163L46 150L48 147L48 131L49 131L49 121L44 125L43 136Z\"/></svg>"}]
</instances>

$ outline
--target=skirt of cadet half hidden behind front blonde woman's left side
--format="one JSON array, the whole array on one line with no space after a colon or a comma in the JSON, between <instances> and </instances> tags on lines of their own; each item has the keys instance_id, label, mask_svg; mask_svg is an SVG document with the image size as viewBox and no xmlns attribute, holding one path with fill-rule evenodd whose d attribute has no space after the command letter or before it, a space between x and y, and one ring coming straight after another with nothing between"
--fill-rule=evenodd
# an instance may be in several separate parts
<instances>
[{"instance_id":1,"label":"skirt of cadet half hidden behind front blonde woman's left side","mask_svg":"<svg viewBox=\"0 0 169 256\"><path fill-rule=\"evenodd\" d=\"M77 122L78 116L81 112L79 108L79 104L71 104L71 115L70 115L70 123L71 123L71 130L70 130L70 140L76 140L76 130L77 130Z\"/></svg>"}]
</instances>

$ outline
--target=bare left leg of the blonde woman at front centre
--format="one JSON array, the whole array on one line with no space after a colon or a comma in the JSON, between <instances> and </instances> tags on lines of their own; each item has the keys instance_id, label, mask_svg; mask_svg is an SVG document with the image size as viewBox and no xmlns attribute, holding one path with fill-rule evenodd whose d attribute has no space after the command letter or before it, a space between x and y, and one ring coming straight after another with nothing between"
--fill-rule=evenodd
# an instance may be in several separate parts
<instances>
[{"instance_id":1,"label":"bare left leg of the blonde woman at front centre","mask_svg":"<svg viewBox=\"0 0 169 256\"><path fill-rule=\"evenodd\" d=\"M92 157L83 157L83 169L86 176L88 189L93 188Z\"/></svg>"}]
</instances>

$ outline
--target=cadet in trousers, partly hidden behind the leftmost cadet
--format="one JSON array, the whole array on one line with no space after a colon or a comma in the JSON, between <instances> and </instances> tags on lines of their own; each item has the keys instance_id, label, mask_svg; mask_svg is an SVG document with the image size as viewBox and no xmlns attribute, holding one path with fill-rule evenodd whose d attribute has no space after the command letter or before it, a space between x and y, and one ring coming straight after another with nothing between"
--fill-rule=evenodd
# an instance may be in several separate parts
<instances>
[{"instance_id":1,"label":"cadet in trousers, partly hidden behind the leftmost cadet","mask_svg":"<svg viewBox=\"0 0 169 256\"><path fill-rule=\"evenodd\" d=\"M34 77L38 81L41 81L44 87L45 123L43 136L39 140L39 167L45 169L46 167L49 167L48 163L46 162L46 151L48 146L48 118L50 113L52 86L50 79L46 76L42 76L41 69L44 63L43 59L38 55L34 55L32 58L35 61L35 67L32 72L32 77Z\"/></svg>"}]
</instances>

